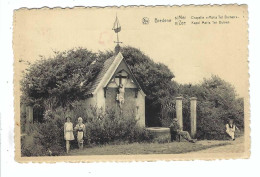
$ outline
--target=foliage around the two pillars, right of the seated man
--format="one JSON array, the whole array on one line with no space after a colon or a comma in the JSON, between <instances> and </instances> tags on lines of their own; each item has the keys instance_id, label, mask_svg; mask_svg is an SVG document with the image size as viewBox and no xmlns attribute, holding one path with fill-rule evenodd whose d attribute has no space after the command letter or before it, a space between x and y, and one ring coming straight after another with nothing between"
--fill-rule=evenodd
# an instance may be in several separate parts
<instances>
[{"instance_id":1,"label":"foliage around the two pillars, right of the seated man","mask_svg":"<svg viewBox=\"0 0 260 177\"><path fill-rule=\"evenodd\" d=\"M190 98L197 97L197 136L199 139L223 139L225 124L233 118L243 129L243 100L237 98L235 89L217 76L204 79L198 85L181 85L183 96L184 129L190 130Z\"/></svg>"}]
</instances>

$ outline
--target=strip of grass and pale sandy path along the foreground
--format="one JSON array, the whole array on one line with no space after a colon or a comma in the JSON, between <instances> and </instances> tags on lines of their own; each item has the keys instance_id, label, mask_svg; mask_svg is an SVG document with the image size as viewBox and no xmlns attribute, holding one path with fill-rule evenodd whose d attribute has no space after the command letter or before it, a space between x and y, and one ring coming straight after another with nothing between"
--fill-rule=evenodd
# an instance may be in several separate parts
<instances>
[{"instance_id":1,"label":"strip of grass and pale sandy path along the foreground","mask_svg":"<svg viewBox=\"0 0 260 177\"><path fill-rule=\"evenodd\" d=\"M215 153L243 152L243 137L236 141L203 140L196 143L132 143L121 145L104 145L88 147L83 150L74 149L69 155L133 155L133 154L181 154L181 153Z\"/></svg>"}]
</instances>

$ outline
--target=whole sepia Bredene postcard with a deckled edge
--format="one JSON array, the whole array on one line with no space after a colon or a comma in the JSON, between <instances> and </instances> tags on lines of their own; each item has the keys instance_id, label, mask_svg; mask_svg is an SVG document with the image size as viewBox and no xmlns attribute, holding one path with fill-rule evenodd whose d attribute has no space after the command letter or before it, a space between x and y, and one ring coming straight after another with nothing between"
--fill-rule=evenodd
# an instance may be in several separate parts
<instances>
[{"instance_id":1,"label":"whole sepia Bredene postcard with a deckled edge","mask_svg":"<svg viewBox=\"0 0 260 177\"><path fill-rule=\"evenodd\" d=\"M247 19L246 5L15 10L16 161L248 158Z\"/></svg>"}]
</instances>

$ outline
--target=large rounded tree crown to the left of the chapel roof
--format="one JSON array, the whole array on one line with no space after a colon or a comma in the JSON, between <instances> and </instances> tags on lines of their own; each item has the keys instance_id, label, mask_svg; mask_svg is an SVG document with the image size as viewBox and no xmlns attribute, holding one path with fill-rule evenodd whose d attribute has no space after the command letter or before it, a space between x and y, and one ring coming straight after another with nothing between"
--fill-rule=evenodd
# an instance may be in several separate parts
<instances>
[{"instance_id":1,"label":"large rounded tree crown to the left of the chapel roof","mask_svg":"<svg viewBox=\"0 0 260 177\"><path fill-rule=\"evenodd\" d=\"M27 69L21 81L23 102L44 105L47 110L84 99L102 65L102 57L82 48L42 57Z\"/></svg>"}]
</instances>

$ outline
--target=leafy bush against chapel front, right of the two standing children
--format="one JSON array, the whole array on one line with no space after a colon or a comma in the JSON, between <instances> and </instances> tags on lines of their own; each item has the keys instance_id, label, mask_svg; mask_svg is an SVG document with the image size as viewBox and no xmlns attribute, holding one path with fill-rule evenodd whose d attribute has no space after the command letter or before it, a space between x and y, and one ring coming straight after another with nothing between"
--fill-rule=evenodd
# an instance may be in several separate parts
<instances>
[{"instance_id":1,"label":"leafy bush against chapel front, right of the two standing children","mask_svg":"<svg viewBox=\"0 0 260 177\"><path fill-rule=\"evenodd\" d=\"M90 143L141 142L150 139L149 132L139 127L133 116L116 114L111 110L101 115L93 115L86 122Z\"/></svg>"}]
</instances>

